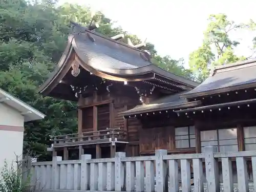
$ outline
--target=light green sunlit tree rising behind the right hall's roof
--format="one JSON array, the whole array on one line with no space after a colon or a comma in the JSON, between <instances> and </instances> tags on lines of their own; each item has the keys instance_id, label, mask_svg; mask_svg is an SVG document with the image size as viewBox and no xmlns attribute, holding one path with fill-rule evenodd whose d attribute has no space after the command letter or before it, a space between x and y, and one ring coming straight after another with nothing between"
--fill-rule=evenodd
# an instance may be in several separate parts
<instances>
[{"instance_id":1,"label":"light green sunlit tree rising behind the right hall's roof","mask_svg":"<svg viewBox=\"0 0 256 192\"><path fill-rule=\"evenodd\" d=\"M202 46L189 55L189 67L200 81L208 76L213 66L246 59L234 54L234 48L240 42L230 39L229 35L232 31L246 29L248 25L236 24L225 14L210 15L208 21Z\"/></svg>"}]
</instances>

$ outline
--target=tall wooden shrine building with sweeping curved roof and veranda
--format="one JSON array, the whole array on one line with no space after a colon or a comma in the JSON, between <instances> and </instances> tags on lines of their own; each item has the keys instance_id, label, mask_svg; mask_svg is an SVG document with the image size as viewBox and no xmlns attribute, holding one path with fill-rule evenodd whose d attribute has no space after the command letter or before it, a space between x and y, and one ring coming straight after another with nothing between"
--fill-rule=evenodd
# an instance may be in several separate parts
<instances>
[{"instance_id":1,"label":"tall wooden shrine building with sweeping curved roof and veranda","mask_svg":"<svg viewBox=\"0 0 256 192\"><path fill-rule=\"evenodd\" d=\"M55 136L54 155L63 151L67 159L69 151L79 149L80 155L94 158L118 151L137 156L140 120L125 119L120 113L198 86L155 66L150 54L143 51L144 44L126 44L122 37L109 38L75 24L55 71L39 90L44 96L78 104L78 133ZM159 132L159 140L161 137Z\"/></svg>"}]
</instances>

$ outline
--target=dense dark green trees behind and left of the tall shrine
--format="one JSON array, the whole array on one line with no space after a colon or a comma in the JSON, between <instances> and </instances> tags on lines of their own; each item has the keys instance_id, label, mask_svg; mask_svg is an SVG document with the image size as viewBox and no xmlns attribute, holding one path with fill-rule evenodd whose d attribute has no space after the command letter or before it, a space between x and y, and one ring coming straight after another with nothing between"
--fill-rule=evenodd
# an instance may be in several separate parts
<instances>
[{"instance_id":1,"label":"dense dark green trees behind and left of the tall shrine","mask_svg":"<svg viewBox=\"0 0 256 192\"><path fill-rule=\"evenodd\" d=\"M30 3L29 3L30 2ZM50 135L69 134L77 129L76 103L45 97L37 93L49 73L53 71L66 47L70 20L88 25L92 12L88 7L55 1L0 0L0 87L37 110L46 114L44 120L25 124L24 151L33 151L39 159L48 158ZM31 3L32 2L32 3ZM98 32L114 36L121 32L134 44L140 39L121 28L113 28L113 21L96 13ZM153 44L146 48L156 65L181 76L192 78L183 61L169 56L160 57Z\"/></svg>"}]
</instances>

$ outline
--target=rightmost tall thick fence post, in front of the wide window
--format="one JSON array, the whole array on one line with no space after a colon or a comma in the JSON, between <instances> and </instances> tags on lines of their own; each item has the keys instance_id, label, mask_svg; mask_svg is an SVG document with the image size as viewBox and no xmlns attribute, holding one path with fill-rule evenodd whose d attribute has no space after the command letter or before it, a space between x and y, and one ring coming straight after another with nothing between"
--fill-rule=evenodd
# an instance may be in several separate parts
<instances>
[{"instance_id":1,"label":"rightmost tall thick fence post, in front of the wide window","mask_svg":"<svg viewBox=\"0 0 256 192\"><path fill-rule=\"evenodd\" d=\"M208 192L219 192L219 165L218 161L214 158L214 153L217 153L218 149L216 146L205 146L205 172Z\"/></svg>"}]
</instances>

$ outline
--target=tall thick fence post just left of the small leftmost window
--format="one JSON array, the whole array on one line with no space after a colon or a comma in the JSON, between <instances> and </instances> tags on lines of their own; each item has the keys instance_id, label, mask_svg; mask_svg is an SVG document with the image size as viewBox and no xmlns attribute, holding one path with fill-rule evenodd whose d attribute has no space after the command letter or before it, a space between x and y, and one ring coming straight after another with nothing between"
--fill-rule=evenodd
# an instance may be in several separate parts
<instances>
[{"instance_id":1,"label":"tall thick fence post just left of the small leftmost window","mask_svg":"<svg viewBox=\"0 0 256 192\"><path fill-rule=\"evenodd\" d=\"M167 167L163 160L165 155L167 150L156 150L156 192L168 191Z\"/></svg>"}]
</instances>

